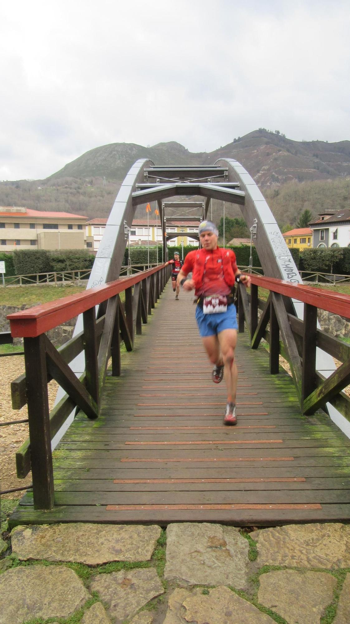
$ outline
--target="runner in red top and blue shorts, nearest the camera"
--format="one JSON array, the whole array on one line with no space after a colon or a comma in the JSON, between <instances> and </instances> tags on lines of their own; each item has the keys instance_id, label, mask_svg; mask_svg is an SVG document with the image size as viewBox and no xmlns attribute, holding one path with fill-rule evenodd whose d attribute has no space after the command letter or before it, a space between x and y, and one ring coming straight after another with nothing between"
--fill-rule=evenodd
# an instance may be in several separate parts
<instances>
[{"instance_id":1,"label":"runner in red top and blue shorts, nearest the camera","mask_svg":"<svg viewBox=\"0 0 350 624\"><path fill-rule=\"evenodd\" d=\"M219 384L225 376L227 405L224 424L235 425L237 366L234 358L238 326L231 293L237 278L245 286L250 286L250 276L240 273L232 250L217 246L218 231L214 223L202 221L198 233L202 249L187 253L177 276L177 285L182 285L184 290L195 289L199 333L207 356L214 364L212 380ZM192 280L186 280L191 271Z\"/></svg>"}]
</instances>

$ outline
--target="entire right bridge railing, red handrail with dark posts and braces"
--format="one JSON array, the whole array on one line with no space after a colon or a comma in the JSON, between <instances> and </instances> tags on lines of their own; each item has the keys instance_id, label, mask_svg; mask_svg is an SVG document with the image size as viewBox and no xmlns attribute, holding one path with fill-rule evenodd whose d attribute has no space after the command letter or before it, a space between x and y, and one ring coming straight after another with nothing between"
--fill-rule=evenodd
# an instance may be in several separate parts
<instances>
[{"instance_id":1,"label":"entire right bridge railing, red handrail with dark posts and braces","mask_svg":"<svg viewBox=\"0 0 350 624\"><path fill-rule=\"evenodd\" d=\"M252 349L262 339L268 342L271 374L278 373L280 354L288 361L303 414L319 407L327 411L331 403L350 421L350 399L342 392L350 383L350 344L317 328L318 309L349 319L350 296L257 275L251 280L250 295L239 285L239 331L245 321ZM267 301L258 297L258 288L268 291ZM295 316L291 299L303 302L303 321ZM341 362L328 378L316 370L317 347Z\"/></svg>"}]
</instances>

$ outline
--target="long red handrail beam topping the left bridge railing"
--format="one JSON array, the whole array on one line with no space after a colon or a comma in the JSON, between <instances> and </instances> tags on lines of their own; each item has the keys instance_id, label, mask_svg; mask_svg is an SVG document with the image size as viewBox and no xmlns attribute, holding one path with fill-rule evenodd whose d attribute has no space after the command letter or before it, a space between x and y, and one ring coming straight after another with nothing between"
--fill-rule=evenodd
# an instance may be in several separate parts
<instances>
[{"instance_id":1,"label":"long red handrail beam topping the left bridge railing","mask_svg":"<svg viewBox=\"0 0 350 624\"><path fill-rule=\"evenodd\" d=\"M153 273L157 273L164 266L166 265L155 266L153 269L143 271L143 273L122 277L96 288L89 288L77 295L69 295L50 303L34 306L29 310L8 314L11 335L13 338L35 338L35 336L69 321L69 319L82 314L99 303L119 295L126 288L130 288Z\"/></svg>"}]
</instances>

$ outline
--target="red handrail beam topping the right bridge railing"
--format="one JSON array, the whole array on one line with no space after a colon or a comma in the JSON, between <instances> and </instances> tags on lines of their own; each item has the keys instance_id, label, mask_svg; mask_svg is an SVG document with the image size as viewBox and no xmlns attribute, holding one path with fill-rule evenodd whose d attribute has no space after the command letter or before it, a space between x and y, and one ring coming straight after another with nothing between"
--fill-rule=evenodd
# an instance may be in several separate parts
<instances>
[{"instance_id":1,"label":"red handrail beam topping the right bridge railing","mask_svg":"<svg viewBox=\"0 0 350 624\"><path fill-rule=\"evenodd\" d=\"M323 288L313 288L304 284L291 284L289 281L273 277L251 275L252 284L267 288L280 295L286 295L311 306L350 318L350 296L332 293Z\"/></svg>"}]
</instances>

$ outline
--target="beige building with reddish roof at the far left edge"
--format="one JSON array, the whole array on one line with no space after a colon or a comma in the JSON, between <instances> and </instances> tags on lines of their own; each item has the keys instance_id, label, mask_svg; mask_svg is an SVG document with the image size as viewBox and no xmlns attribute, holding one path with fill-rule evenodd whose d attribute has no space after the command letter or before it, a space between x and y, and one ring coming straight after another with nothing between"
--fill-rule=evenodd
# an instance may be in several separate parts
<instances>
[{"instance_id":1,"label":"beige building with reddish roof at the far left edge","mask_svg":"<svg viewBox=\"0 0 350 624\"><path fill-rule=\"evenodd\" d=\"M0 206L0 251L14 249L85 249L87 218L69 212L46 212Z\"/></svg>"}]
</instances>

